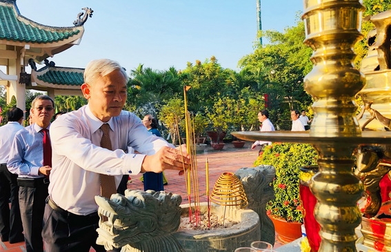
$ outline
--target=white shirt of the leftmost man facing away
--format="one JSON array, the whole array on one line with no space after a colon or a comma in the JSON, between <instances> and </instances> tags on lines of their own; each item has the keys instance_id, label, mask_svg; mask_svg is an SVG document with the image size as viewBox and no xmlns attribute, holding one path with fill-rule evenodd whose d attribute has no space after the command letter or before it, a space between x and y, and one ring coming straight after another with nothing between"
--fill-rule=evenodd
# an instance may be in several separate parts
<instances>
[{"instance_id":1,"label":"white shirt of the leftmost man facing away","mask_svg":"<svg viewBox=\"0 0 391 252\"><path fill-rule=\"evenodd\" d=\"M0 164L7 164L9 150L15 134L21 130L23 126L19 122L8 122L6 125L0 127Z\"/></svg>"}]
</instances>

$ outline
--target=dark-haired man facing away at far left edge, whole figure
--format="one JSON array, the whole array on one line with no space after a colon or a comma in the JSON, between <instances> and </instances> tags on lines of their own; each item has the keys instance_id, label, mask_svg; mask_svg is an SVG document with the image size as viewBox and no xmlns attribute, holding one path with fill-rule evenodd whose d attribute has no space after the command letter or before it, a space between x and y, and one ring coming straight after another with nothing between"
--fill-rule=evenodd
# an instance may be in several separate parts
<instances>
[{"instance_id":1,"label":"dark-haired man facing away at far left edge, whole figure","mask_svg":"<svg viewBox=\"0 0 391 252\"><path fill-rule=\"evenodd\" d=\"M23 129L23 110L10 108L7 111L7 124L0 127L0 235L2 242L24 241L21 211L19 209L19 186L17 174L7 168L8 151L16 133ZM11 209L10 204L11 203Z\"/></svg>"}]
</instances>

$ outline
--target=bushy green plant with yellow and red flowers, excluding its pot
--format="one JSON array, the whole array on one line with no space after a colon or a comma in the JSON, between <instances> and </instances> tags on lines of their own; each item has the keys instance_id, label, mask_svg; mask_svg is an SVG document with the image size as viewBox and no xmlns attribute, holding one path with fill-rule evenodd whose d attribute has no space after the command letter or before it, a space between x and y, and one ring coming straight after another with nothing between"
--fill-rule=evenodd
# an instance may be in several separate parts
<instances>
[{"instance_id":1,"label":"bushy green plant with yellow and red flowers, excluding its pot","mask_svg":"<svg viewBox=\"0 0 391 252\"><path fill-rule=\"evenodd\" d=\"M268 215L288 222L303 222L299 196L301 166L317 164L317 151L310 144L273 143L266 146L254 165L269 164L276 168L272 185L275 199L268 202Z\"/></svg>"}]
</instances>

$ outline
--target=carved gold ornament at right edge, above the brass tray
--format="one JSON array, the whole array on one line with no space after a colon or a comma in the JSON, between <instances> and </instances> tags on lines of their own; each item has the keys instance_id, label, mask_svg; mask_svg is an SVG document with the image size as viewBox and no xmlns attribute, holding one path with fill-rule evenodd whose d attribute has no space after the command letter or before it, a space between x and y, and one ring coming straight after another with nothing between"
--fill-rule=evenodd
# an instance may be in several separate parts
<instances>
[{"instance_id":1,"label":"carved gold ornament at right edge, above the brass tray","mask_svg":"<svg viewBox=\"0 0 391 252\"><path fill-rule=\"evenodd\" d=\"M362 130L390 130L391 10L370 17L370 21L376 28L368 34L368 54L361 64L367 83L359 92L365 105L358 119Z\"/></svg>"}]
</instances>

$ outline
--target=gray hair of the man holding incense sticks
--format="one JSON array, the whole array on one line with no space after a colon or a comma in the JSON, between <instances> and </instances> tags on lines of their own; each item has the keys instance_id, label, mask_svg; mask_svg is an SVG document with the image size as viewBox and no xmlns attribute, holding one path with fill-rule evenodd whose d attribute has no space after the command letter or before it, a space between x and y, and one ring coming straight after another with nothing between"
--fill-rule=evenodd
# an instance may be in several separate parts
<instances>
[{"instance_id":1,"label":"gray hair of the man holding incense sticks","mask_svg":"<svg viewBox=\"0 0 391 252\"><path fill-rule=\"evenodd\" d=\"M84 70L84 82L92 84L99 77L106 76L114 70L121 71L126 82L128 82L128 75L125 68L123 68L117 61L111 59L94 59L87 64L86 70Z\"/></svg>"}]
</instances>

